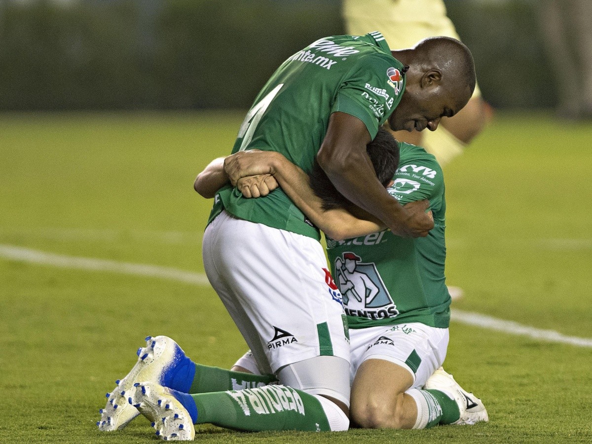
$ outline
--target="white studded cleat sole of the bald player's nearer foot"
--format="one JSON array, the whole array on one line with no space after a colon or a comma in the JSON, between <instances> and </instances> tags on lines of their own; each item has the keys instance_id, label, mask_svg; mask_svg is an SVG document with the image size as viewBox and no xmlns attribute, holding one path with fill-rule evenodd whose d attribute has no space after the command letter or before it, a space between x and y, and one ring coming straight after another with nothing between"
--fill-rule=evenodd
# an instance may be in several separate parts
<instances>
[{"instance_id":1,"label":"white studded cleat sole of the bald player's nearer foot","mask_svg":"<svg viewBox=\"0 0 592 444\"><path fill-rule=\"evenodd\" d=\"M191 441L195 427L191 416L172 391L153 382L140 382L132 390L130 403L143 414L165 441Z\"/></svg>"}]
</instances>

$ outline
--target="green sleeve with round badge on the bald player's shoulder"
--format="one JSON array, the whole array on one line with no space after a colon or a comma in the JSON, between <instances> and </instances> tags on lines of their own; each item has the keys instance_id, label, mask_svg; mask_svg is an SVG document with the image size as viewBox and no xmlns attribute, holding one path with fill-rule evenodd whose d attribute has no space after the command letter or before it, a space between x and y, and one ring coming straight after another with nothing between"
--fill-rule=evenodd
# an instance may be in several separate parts
<instances>
[{"instance_id":1,"label":"green sleeve with round badge on the bald player's shoulder","mask_svg":"<svg viewBox=\"0 0 592 444\"><path fill-rule=\"evenodd\" d=\"M403 94L404 77L394 62L381 54L361 57L341 83L331 112L358 117L374 139Z\"/></svg>"}]
</instances>

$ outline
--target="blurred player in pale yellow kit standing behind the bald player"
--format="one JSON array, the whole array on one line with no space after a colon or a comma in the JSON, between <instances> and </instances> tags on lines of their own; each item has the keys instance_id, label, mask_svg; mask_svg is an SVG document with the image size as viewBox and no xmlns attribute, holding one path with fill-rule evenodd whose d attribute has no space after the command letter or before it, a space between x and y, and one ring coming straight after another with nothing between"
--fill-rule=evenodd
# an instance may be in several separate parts
<instances>
[{"instance_id":1,"label":"blurred player in pale yellow kit standing behind the bald player","mask_svg":"<svg viewBox=\"0 0 592 444\"><path fill-rule=\"evenodd\" d=\"M448 36L460 40L452 21L446 16L443 0L343 0L346 32L362 36L378 29L391 50L413 47L427 37ZM441 166L462 153L464 147L491 120L491 108L475 91L468 104L454 117L443 118L433 133L395 132L398 141L425 147Z\"/></svg>"}]
</instances>

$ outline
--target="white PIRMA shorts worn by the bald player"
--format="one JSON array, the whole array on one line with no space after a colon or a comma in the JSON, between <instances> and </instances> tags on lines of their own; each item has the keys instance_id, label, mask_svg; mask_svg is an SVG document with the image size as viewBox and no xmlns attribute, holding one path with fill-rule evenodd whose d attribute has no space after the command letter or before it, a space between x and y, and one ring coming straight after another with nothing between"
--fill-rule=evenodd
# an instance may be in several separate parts
<instances>
[{"instance_id":1,"label":"white PIRMA shorts worn by the bald player","mask_svg":"<svg viewBox=\"0 0 592 444\"><path fill-rule=\"evenodd\" d=\"M350 362L342 297L317 240L223 211L205 230L203 256L261 371L316 356Z\"/></svg>"}]
</instances>

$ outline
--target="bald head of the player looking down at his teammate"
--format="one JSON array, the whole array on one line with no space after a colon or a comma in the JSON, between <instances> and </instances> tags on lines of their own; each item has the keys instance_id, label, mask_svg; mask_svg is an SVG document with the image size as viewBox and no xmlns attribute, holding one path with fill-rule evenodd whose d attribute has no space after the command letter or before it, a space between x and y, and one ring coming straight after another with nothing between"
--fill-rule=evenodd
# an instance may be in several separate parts
<instances>
[{"instance_id":1,"label":"bald head of the player looking down at his teammate","mask_svg":"<svg viewBox=\"0 0 592 444\"><path fill-rule=\"evenodd\" d=\"M395 131L433 131L452 117L475 89L475 64L469 49L451 37L430 37L413 48L392 52L409 69L403 97L389 118Z\"/></svg>"}]
</instances>

